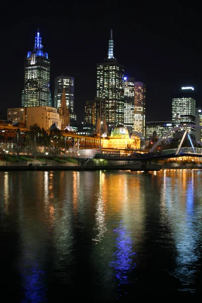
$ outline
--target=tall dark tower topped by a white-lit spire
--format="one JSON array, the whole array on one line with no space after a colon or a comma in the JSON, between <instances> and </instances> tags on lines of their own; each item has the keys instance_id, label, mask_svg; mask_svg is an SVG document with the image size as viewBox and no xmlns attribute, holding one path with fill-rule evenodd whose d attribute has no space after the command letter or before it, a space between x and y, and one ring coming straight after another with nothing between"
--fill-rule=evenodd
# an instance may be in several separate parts
<instances>
[{"instance_id":1,"label":"tall dark tower topped by a white-lit spire","mask_svg":"<svg viewBox=\"0 0 202 303\"><path fill-rule=\"evenodd\" d=\"M97 64L97 97L106 99L109 128L124 124L124 67L113 55L114 41L110 30L108 58Z\"/></svg>"}]
</instances>

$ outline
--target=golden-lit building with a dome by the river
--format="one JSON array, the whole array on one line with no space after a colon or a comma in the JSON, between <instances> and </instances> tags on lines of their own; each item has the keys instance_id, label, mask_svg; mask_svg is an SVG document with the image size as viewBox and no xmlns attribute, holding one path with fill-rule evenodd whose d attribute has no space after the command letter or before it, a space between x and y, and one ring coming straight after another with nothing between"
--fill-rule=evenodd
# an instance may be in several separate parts
<instances>
[{"instance_id":1,"label":"golden-lit building with a dome by the river","mask_svg":"<svg viewBox=\"0 0 202 303\"><path fill-rule=\"evenodd\" d=\"M129 138L127 128L118 125L112 131L110 137L106 137L102 139L102 147L103 148L115 148L115 149L139 149L140 148L140 138L133 134Z\"/></svg>"}]
</instances>

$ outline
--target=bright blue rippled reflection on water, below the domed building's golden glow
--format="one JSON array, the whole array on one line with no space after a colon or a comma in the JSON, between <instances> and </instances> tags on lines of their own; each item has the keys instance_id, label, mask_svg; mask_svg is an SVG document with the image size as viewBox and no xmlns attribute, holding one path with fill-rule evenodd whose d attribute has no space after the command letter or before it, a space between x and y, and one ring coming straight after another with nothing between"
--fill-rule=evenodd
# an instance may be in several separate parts
<instances>
[{"instance_id":1,"label":"bright blue rippled reflection on water, below the domed building's golden glow","mask_svg":"<svg viewBox=\"0 0 202 303\"><path fill-rule=\"evenodd\" d=\"M115 275L121 284L127 284L130 283L128 273L136 267L136 263L133 263L132 260L132 256L136 253L133 252L130 232L121 223L118 228L114 229L118 235L115 240L117 250L114 252L114 260L110 262L110 266L115 268Z\"/></svg>"}]
</instances>

